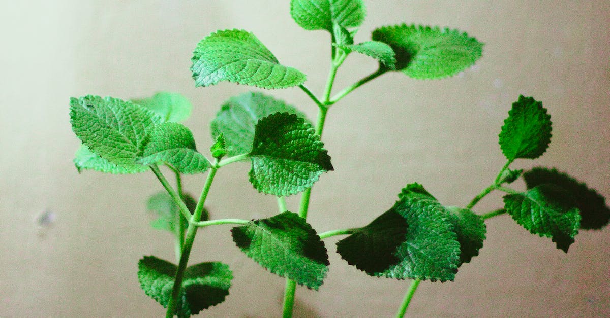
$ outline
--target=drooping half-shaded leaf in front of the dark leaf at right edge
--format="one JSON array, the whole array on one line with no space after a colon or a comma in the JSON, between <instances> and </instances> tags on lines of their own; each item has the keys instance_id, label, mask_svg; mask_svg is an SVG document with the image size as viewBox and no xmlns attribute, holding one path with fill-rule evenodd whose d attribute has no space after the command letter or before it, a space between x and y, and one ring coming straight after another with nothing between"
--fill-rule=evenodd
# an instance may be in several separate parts
<instances>
[{"instance_id":1,"label":"drooping half-shaded leaf in front of the dark leaf at right edge","mask_svg":"<svg viewBox=\"0 0 610 318\"><path fill-rule=\"evenodd\" d=\"M532 234L551 238L568 252L578 234L580 213L574 197L559 186L545 183L525 193L504 196L508 214Z\"/></svg>"}]
</instances>

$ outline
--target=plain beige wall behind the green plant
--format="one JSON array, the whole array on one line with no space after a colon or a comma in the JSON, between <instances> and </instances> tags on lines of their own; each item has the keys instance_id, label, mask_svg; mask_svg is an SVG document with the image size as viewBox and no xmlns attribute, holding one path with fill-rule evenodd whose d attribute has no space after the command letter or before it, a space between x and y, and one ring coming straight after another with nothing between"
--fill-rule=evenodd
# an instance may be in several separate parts
<instances>
[{"instance_id":1,"label":"plain beige wall behind the green plant","mask_svg":"<svg viewBox=\"0 0 610 318\"><path fill-rule=\"evenodd\" d=\"M346 97L329 113L325 142L335 172L313 193L308 221L319 231L366 224L391 207L409 182L447 205L465 205L504 163L497 145L520 93L544 102L553 143L535 164L556 166L610 197L610 2L367 1L357 39L376 26L425 23L466 30L486 43L476 66L453 79L416 81L389 74ZM173 259L168 233L149 228L146 197L162 188L150 173L77 174L79 141L68 97L123 99L171 90L194 105L187 125L199 148L208 122L228 97L253 88L195 88L188 67L195 44L217 29L250 30L285 65L308 76L318 94L328 71L328 34L307 32L289 1L3 1L0 5L0 316L150 317L163 310L138 287L142 255ZM337 88L373 71L350 56ZM297 89L268 92L314 118ZM515 168L534 163L520 160ZM209 208L214 217L271 216L271 196L247 182L247 164L222 169ZM189 177L198 192L203 178ZM522 188L522 183L517 185ZM500 206L500 194L476 208ZM289 200L296 210L298 198ZM56 221L40 230L42 211ZM422 283L409 315L602 317L610 314L610 230L584 231L570 252L529 235L507 216L487 222L481 254L453 283ZM235 248L223 225L201 231L192 262L218 260L234 286L210 317L278 316L284 280ZM348 266L326 241L329 277L320 292L300 288L300 317L389 317L408 281L371 278Z\"/></svg>"}]
</instances>

